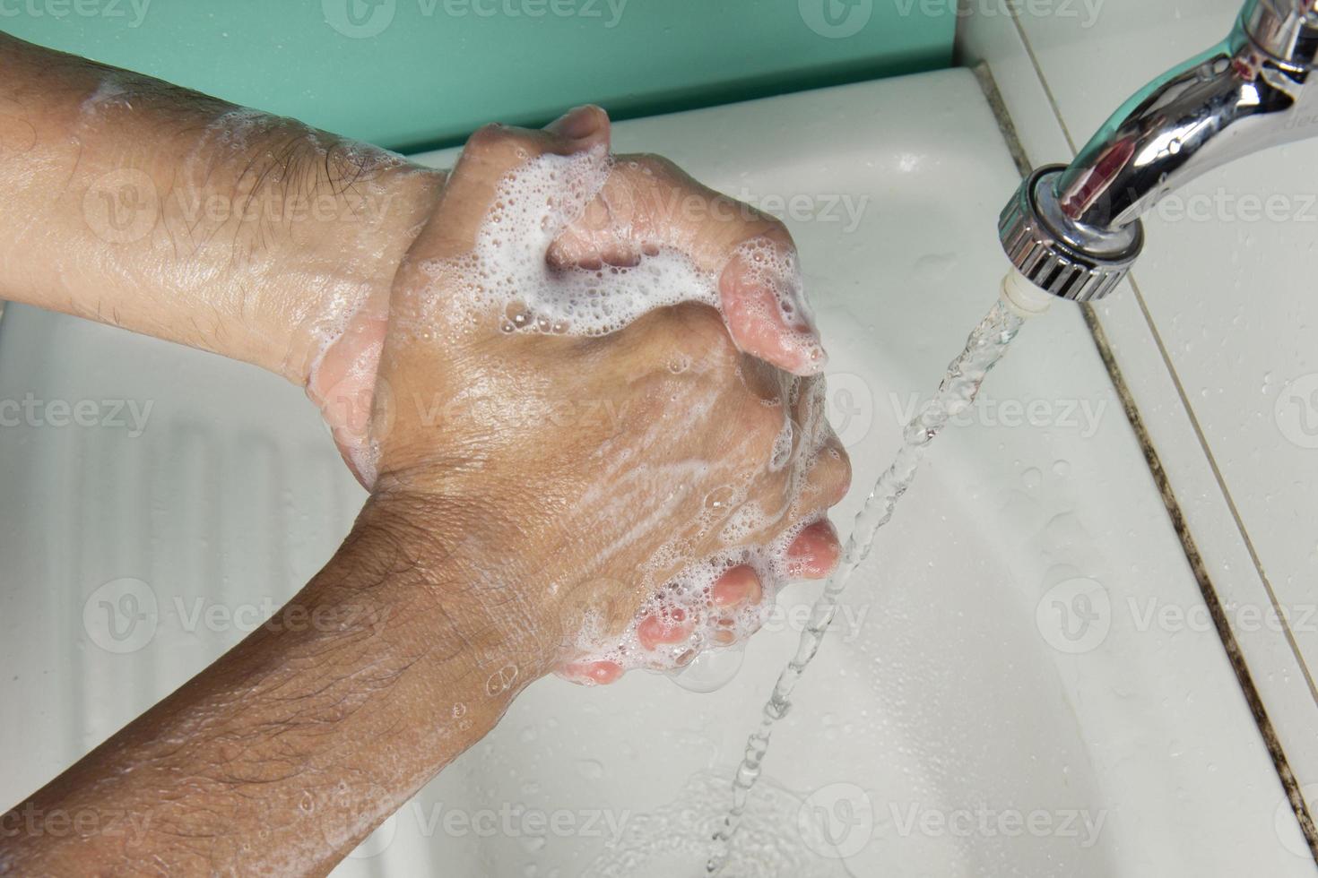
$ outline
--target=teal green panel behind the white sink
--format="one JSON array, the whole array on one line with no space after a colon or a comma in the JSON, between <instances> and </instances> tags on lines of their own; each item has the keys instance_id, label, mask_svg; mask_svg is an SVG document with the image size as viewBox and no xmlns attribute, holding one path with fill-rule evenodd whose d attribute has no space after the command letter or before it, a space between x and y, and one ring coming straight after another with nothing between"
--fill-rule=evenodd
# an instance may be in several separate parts
<instances>
[{"instance_id":1,"label":"teal green panel behind the white sink","mask_svg":"<svg viewBox=\"0 0 1318 878\"><path fill-rule=\"evenodd\" d=\"M0 0L0 30L394 149L945 67L954 0Z\"/></svg>"}]
</instances>

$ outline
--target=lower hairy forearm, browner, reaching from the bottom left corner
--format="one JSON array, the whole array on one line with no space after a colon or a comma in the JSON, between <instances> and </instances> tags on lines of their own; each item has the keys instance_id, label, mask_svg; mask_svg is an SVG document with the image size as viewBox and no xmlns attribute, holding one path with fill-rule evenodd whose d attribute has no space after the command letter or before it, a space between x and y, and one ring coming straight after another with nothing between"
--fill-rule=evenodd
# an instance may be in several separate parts
<instances>
[{"instance_id":1,"label":"lower hairy forearm, browner, reaching from the bottom left corner","mask_svg":"<svg viewBox=\"0 0 1318 878\"><path fill-rule=\"evenodd\" d=\"M0 873L328 871L547 670L468 517L372 500L265 627L4 815Z\"/></svg>"}]
</instances>

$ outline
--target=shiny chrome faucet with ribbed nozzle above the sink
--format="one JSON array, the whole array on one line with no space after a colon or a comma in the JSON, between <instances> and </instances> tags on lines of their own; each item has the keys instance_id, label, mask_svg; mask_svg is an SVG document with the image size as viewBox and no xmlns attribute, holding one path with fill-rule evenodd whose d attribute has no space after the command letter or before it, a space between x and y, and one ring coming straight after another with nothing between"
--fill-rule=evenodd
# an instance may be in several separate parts
<instances>
[{"instance_id":1,"label":"shiny chrome faucet with ribbed nozzle above the sink","mask_svg":"<svg viewBox=\"0 0 1318 878\"><path fill-rule=\"evenodd\" d=\"M1247 0L1219 45L1162 74L1070 165L1036 168L998 220L1012 265L1062 299L1101 299L1144 246L1140 216L1205 171L1318 136L1318 0Z\"/></svg>"}]
</instances>

